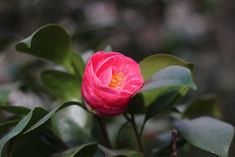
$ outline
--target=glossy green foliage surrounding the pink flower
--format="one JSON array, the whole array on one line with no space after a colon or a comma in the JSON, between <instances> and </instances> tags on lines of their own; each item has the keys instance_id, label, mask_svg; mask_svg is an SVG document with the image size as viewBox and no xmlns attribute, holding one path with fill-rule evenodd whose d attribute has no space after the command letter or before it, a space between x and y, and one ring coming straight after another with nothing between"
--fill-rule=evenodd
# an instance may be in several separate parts
<instances>
[{"instance_id":1,"label":"glossy green foliage surrounding the pink flower","mask_svg":"<svg viewBox=\"0 0 235 157\"><path fill-rule=\"evenodd\" d=\"M172 127L167 131L175 128L180 134L177 142L181 144L177 144L178 148L189 143L218 156L228 156L229 145L234 135L233 127L214 118L196 118L205 115L220 118L218 112L214 114L208 107L214 108L215 101L194 100L187 103L184 111L176 110L181 98L190 89L197 88L192 78L191 63L165 54L143 59L139 65L145 84L132 98L127 111L123 114L126 121L122 119L120 125L117 122L120 117L110 119L101 117L98 118L98 122L103 122L97 126L97 116L86 108L80 92L84 62L81 54L75 53L71 45L67 32L54 24L39 28L16 45L16 50L19 52L55 64L54 69L47 69L40 76L41 89L52 101L50 111L43 107L29 109L11 106L5 97L0 101L0 111L12 114L12 118L0 124L1 157L169 156L171 147L169 138L164 140L164 146L159 146L157 152L154 151L157 147L155 145L155 149L146 148L148 144L144 145L145 148L141 148L142 142L155 142L154 138L152 141L143 140L145 124L154 121L159 114L165 113L163 111L168 111L165 115L171 118ZM112 51L111 46L107 46L105 51L107 53ZM4 93L1 92L2 94ZM76 111L76 114L72 111ZM200 111L204 114L199 114ZM143 121L138 125L136 117L143 116ZM104 135L100 133L104 132L102 124L110 127L115 124L120 129L101 137ZM137 135L137 139L133 134ZM107 145L105 140L110 136L117 138Z\"/></svg>"}]
</instances>

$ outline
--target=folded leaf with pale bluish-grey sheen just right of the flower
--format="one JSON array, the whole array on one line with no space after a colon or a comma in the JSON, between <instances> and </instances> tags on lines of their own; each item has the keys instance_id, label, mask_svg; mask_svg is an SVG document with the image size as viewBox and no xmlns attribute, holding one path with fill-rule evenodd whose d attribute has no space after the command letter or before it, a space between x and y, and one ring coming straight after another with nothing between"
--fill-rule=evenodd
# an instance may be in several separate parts
<instances>
[{"instance_id":1,"label":"folded leaf with pale bluish-grey sheen just right of the flower","mask_svg":"<svg viewBox=\"0 0 235 157\"><path fill-rule=\"evenodd\" d=\"M145 120L169 106L173 106L189 88L196 89L189 69L182 66L168 66L146 81L142 88Z\"/></svg>"}]
</instances>

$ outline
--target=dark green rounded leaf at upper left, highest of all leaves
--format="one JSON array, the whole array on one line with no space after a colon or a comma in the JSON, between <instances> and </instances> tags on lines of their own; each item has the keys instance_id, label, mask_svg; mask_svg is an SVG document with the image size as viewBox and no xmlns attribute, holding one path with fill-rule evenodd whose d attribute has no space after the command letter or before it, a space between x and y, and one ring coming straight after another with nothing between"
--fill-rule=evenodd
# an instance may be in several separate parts
<instances>
[{"instance_id":1,"label":"dark green rounded leaf at upper left, highest of all leaves","mask_svg":"<svg viewBox=\"0 0 235 157\"><path fill-rule=\"evenodd\" d=\"M16 45L16 50L59 65L66 65L70 53L70 44L70 37L62 27L49 24L20 41Z\"/></svg>"}]
</instances>

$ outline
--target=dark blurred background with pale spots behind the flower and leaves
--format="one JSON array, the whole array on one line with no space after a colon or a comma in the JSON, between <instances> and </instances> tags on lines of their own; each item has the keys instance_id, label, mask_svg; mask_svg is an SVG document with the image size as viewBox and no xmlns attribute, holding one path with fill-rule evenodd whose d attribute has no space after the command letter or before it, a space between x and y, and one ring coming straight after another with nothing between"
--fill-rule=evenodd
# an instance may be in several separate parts
<instances>
[{"instance_id":1,"label":"dark blurred background with pale spots behind the flower and leaves","mask_svg":"<svg viewBox=\"0 0 235 157\"><path fill-rule=\"evenodd\" d=\"M216 94L224 120L235 126L234 0L0 0L1 101L48 103L27 85L12 90L45 67L16 52L15 43L48 23L63 26L85 58L111 45L137 61L169 53L194 63L198 90L190 96Z\"/></svg>"}]
</instances>

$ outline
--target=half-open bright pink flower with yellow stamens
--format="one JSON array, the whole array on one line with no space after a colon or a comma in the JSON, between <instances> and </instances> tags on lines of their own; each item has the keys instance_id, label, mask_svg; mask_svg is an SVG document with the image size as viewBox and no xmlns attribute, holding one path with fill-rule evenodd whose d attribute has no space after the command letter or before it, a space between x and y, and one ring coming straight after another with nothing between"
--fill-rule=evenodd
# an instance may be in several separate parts
<instances>
[{"instance_id":1,"label":"half-open bright pink flower with yellow stamens","mask_svg":"<svg viewBox=\"0 0 235 157\"><path fill-rule=\"evenodd\" d=\"M125 111L143 83L139 65L133 59L118 52L98 51L86 65L82 96L96 114L114 116Z\"/></svg>"}]
</instances>

